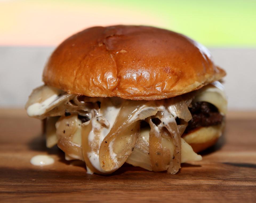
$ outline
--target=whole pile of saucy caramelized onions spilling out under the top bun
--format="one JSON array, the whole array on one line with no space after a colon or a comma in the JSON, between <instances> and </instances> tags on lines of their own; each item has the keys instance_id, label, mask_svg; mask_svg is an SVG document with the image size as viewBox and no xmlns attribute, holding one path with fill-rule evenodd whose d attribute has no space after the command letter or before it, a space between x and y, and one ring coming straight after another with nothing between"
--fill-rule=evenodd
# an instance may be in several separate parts
<instances>
[{"instance_id":1,"label":"whole pile of saucy caramelized onions spilling out under the top bun","mask_svg":"<svg viewBox=\"0 0 256 203\"><path fill-rule=\"evenodd\" d=\"M43 107L45 113L37 117L61 116L55 125L58 147L71 158L85 160L89 171L112 173L127 161L148 170L175 174L181 164L181 146L189 153L192 149L185 141L181 143L181 135L192 118L188 106L193 95L131 101L69 95L43 86L33 91L26 107L54 96L53 102ZM81 117L86 117L83 124ZM144 119L150 126L146 141L138 138L140 121ZM196 154L192 158L199 159Z\"/></svg>"}]
</instances>

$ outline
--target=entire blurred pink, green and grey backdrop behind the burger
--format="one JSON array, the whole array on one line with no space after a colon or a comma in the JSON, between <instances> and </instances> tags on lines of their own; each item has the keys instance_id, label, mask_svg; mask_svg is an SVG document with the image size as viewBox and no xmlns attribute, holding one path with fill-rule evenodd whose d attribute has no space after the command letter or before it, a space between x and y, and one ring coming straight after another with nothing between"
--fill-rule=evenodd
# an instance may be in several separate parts
<instances>
[{"instance_id":1,"label":"entire blurred pink, green and grey backdrop behind the burger","mask_svg":"<svg viewBox=\"0 0 256 203\"><path fill-rule=\"evenodd\" d=\"M0 107L24 107L68 36L113 24L166 28L205 45L227 72L229 110L256 110L254 0L0 0Z\"/></svg>"}]
</instances>

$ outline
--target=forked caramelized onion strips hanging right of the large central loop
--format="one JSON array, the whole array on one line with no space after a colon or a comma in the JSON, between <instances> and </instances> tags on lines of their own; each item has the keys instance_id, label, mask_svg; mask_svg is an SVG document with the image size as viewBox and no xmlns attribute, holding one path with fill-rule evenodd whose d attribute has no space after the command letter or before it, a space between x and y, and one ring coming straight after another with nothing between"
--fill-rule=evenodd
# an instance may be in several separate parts
<instances>
[{"instance_id":1,"label":"forked caramelized onion strips hanging right of the large central loop","mask_svg":"<svg viewBox=\"0 0 256 203\"><path fill-rule=\"evenodd\" d=\"M177 125L175 117L181 120L181 125ZM187 103L182 97L165 100L164 108L152 118L158 118L161 123L157 126L148 119L151 127L149 134L149 153L153 171L166 170L175 174L181 164L181 135L184 132L187 121L191 119ZM167 130L166 130L167 129ZM174 144L174 155L170 157L170 150L162 147L162 137L172 139ZM152 154L153 153L153 154Z\"/></svg>"}]
</instances>

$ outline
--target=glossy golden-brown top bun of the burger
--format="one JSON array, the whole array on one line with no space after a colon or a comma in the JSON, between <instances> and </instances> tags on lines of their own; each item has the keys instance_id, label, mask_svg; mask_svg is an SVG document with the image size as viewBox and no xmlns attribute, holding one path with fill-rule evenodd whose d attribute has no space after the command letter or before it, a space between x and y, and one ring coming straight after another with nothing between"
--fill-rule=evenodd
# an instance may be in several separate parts
<instances>
[{"instance_id":1,"label":"glossy golden-brown top bun of the burger","mask_svg":"<svg viewBox=\"0 0 256 203\"><path fill-rule=\"evenodd\" d=\"M62 42L46 85L90 97L159 100L221 79L209 51L184 35L146 26L91 27Z\"/></svg>"}]
</instances>

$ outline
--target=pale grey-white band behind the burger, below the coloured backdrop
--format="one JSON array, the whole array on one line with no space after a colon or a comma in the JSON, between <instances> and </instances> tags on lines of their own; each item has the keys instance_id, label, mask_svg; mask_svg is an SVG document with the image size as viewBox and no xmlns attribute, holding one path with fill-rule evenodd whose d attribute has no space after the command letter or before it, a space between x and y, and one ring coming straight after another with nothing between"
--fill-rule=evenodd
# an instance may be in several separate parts
<instances>
[{"instance_id":1,"label":"pale grey-white band behind the burger, below the coloured backdrop","mask_svg":"<svg viewBox=\"0 0 256 203\"><path fill-rule=\"evenodd\" d=\"M42 84L42 70L53 47L0 47L0 107L23 107ZM210 48L227 72L229 109L256 110L256 48Z\"/></svg>"}]
</instances>

